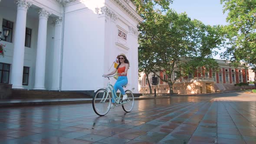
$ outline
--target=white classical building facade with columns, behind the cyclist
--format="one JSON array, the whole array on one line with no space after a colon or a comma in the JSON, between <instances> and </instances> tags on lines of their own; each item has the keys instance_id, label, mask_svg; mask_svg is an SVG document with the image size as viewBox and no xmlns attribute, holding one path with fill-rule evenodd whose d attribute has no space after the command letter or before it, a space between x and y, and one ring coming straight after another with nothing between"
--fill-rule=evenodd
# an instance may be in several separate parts
<instances>
[{"instance_id":1,"label":"white classical building facade with columns, behind the cyclist","mask_svg":"<svg viewBox=\"0 0 256 144\"><path fill-rule=\"evenodd\" d=\"M1 0L0 29L10 33L0 41L5 45L0 83L18 89L95 91L105 87L102 75L125 53L128 88L138 93L141 21L130 0Z\"/></svg>"}]
</instances>

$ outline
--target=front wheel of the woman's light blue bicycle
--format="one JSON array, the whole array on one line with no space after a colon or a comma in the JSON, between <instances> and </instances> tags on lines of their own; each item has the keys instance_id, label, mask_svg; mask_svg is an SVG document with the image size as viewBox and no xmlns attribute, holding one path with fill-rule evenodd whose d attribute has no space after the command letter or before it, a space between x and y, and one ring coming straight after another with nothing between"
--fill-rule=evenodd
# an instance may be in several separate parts
<instances>
[{"instance_id":1,"label":"front wheel of the woman's light blue bicycle","mask_svg":"<svg viewBox=\"0 0 256 144\"><path fill-rule=\"evenodd\" d=\"M111 106L111 96L106 89L99 89L95 92L92 99L92 107L94 112L99 116L104 116L108 113Z\"/></svg>"}]
</instances>

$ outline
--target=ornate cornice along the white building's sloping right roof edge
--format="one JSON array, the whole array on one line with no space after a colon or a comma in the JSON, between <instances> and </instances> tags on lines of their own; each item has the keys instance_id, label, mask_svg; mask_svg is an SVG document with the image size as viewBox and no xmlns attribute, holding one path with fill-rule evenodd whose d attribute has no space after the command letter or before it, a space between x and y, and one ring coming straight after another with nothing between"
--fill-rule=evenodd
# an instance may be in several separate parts
<instances>
[{"instance_id":1,"label":"ornate cornice along the white building's sloping right roof edge","mask_svg":"<svg viewBox=\"0 0 256 144\"><path fill-rule=\"evenodd\" d=\"M125 4L128 2L128 0L124 0L125 3L123 3L123 0L114 0L123 10L125 10L132 18L134 18L138 23L140 23L143 19L141 16L138 15L138 13L135 10L130 10ZM127 1L127 2L126 2ZM130 7L130 6L129 6ZM136 14L134 14L136 13Z\"/></svg>"}]
</instances>

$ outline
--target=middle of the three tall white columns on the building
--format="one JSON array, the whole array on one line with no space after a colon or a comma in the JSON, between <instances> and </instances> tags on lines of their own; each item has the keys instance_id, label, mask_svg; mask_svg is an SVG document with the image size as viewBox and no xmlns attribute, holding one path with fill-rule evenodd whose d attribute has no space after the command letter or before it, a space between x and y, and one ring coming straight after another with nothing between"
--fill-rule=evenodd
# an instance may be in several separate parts
<instances>
[{"instance_id":1,"label":"middle of the three tall white columns on the building","mask_svg":"<svg viewBox=\"0 0 256 144\"><path fill-rule=\"evenodd\" d=\"M34 89L45 89L45 60L46 60L46 36L47 20L50 13L46 10L39 10L39 26L36 50L36 74Z\"/></svg>"}]
</instances>

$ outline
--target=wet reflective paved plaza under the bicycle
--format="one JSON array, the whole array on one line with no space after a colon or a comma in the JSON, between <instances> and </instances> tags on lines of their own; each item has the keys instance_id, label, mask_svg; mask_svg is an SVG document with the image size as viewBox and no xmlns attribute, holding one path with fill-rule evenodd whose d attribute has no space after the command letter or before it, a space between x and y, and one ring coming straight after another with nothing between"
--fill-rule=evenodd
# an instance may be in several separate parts
<instances>
[{"instance_id":1,"label":"wet reflective paved plaza under the bicycle","mask_svg":"<svg viewBox=\"0 0 256 144\"><path fill-rule=\"evenodd\" d=\"M256 144L256 94L136 100L98 117L92 104L0 108L0 144Z\"/></svg>"}]
</instances>

